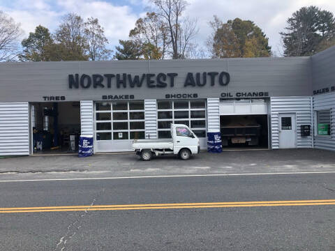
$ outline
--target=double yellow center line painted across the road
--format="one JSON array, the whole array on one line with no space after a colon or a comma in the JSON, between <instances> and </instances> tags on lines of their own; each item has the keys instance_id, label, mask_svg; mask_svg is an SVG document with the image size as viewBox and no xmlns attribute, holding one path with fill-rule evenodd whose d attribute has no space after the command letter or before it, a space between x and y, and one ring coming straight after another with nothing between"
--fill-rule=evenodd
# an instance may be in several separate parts
<instances>
[{"instance_id":1,"label":"double yellow center line painted across the road","mask_svg":"<svg viewBox=\"0 0 335 251\"><path fill-rule=\"evenodd\" d=\"M94 206L41 206L0 208L0 213L37 213L61 211L116 211L144 210L168 208L228 208L254 206L315 206L335 205L335 199L315 199L297 201L237 201L237 202L203 202L203 203L172 203L172 204L128 204L128 205L94 205Z\"/></svg>"}]
</instances>

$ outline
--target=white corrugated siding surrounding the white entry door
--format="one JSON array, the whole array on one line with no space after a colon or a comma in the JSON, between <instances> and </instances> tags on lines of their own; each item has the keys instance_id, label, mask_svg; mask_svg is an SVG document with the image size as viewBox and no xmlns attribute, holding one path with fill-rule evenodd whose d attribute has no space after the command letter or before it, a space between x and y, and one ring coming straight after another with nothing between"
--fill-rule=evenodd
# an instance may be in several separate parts
<instances>
[{"instance_id":1,"label":"white corrugated siding surrounding the white entry door","mask_svg":"<svg viewBox=\"0 0 335 251\"><path fill-rule=\"evenodd\" d=\"M296 114L297 126L297 148L312 148L313 137L301 137L301 125L312 126L312 105L311 97L271 97L271 148L279 148L279 115L280 113Z\"/></svg>"}]
</instances>

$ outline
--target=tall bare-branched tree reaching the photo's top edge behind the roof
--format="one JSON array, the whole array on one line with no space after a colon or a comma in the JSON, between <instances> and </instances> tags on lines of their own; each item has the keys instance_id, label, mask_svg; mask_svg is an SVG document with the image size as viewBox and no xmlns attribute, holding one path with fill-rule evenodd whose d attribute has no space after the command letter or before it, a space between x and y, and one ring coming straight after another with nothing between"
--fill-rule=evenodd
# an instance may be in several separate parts
<instances>
[{"instance_id":1,"label":"tall bare-branched tree reaching the photo's top edge behind the roof","mask_svg":"<svg viewBox=\"0 0 335 251\"><path fill-rule=\"evenodd\" d=\"M184 0L151 0L156 15L162 18L167 29L172 59L184 59L195 46L192 43L198 33L197 22L182 18L187 2Z\"/></svg>"}]
</instances>

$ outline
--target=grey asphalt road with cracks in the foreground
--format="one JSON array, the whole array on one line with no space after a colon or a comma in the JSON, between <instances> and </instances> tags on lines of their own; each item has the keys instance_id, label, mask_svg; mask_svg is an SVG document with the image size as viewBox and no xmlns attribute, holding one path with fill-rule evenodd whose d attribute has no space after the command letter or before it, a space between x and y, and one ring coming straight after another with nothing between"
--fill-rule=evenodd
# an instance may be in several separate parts
<instances>
[{"instance_id":1,"label":"grey asphalt road with cracks in the foreground","mask_svg":"<svg viewBox=\"0 0 335 251\"><path fill-rule=\"evenodd\" d=\"M335 199L335 174L0 182L0 190L0 211L322 200ZM335 204L0 213L0 243L0 250L335 250Z\"/></svg>"}]
</instances>

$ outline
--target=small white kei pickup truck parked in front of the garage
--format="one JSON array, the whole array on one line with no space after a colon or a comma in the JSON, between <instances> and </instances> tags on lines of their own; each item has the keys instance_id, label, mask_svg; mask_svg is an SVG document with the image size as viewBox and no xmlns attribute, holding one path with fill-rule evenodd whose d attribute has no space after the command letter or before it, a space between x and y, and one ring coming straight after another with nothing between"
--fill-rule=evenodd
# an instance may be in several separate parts
<instances>
[{"instance_id":1,"label":"small white kei pickup truck parked in front of the garage","mask_svg":"<svg viewBox=\"0 0 335 251\"><path fill-rule=\"evenodd\" d=\"M133 149L142 160L149 161L153 155L174 154L181 160L188 160L200 152L198 137L182 124L171 124L172 139L135 139Z\"/></svg>"}]
</instances>

